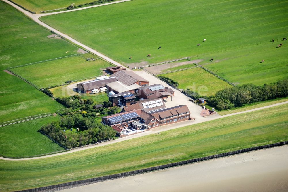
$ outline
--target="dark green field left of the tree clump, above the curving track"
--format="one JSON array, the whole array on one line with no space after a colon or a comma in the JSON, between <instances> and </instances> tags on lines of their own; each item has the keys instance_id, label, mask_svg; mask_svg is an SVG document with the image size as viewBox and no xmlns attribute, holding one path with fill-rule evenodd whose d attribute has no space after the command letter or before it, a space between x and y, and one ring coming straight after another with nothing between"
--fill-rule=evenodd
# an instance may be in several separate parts
<instances>
[{"instance_id":1,"label":"dark green field left of the tree clump, above the curving track","mask_svg":"<svg viewBox=\"0 0 288 192\"><path fill-rule=\"evenodd\" d=\"M63 150L64 148L37 132L41 125L58 119L59 116L49 116L0 127L0 155L23 157Z\"/></svg>"}]
</instances>

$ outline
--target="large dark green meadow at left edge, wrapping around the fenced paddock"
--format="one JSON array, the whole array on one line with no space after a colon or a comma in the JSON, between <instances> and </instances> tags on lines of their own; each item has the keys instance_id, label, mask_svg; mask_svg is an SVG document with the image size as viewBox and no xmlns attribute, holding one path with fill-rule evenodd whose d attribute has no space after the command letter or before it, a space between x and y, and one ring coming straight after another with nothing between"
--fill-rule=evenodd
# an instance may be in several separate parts
<instances>
[{"instance_id":1,"label":"large dark green meadow at left edge, wrapping around the fenced paddock","mask_svg":"<svg viewBox=\"0 0 288 192\"><path fill-rule=\"evenodd\" d=\"M63 39L48 39L50 31L2 1L0 17L0 122L63 109L51 97L3 70L77 54L78 48Z\"/></svg>"}]
</instances>

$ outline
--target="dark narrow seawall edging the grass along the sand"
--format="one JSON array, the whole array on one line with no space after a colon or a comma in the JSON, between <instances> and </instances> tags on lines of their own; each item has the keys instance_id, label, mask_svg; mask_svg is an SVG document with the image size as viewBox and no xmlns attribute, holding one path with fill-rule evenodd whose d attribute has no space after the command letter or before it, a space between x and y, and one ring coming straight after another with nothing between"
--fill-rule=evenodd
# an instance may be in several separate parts
<instances>
[{"instance_id":1,"label":"dark narrow seawall edging the grass along the sand","mask_svg":"<svg viewBox=\"0 0 288 192\"><path fill-rule=\"evenodd\" d=\"M169 164L165 164L165 165L159 165L159 166L155 166L155 167L149 167L149 168L144 168L144 169L139 169L139 170L134 170L134 171L129 171L129 172L123 172L123 173L118 173L118 174L113 174L113 175L107 175L107 176L96 177L96 178L91 178L91 179L66 182L66 183L61 183L61 184L56 184L56 185L49 185L49 186L38 187L38 188L34 188L34 189L26 189L26 190L22 190L21 192L42 191L42 190L55 189L55 188L59 188L59 187L79 185L79 184L88 183L88 182L103 181L103 180L107 180L107 179L115 179L115 178L119 178L119 177L131 176L131 175L135 175L135 174L146 173L146 172L151 172L151 171L156 171L156 170L162 170L162 169L167 169L170 167L186 165L186 164L190 164L190 163L196 163L199 161L216 159L216 158L220 158L220 157L226 157L226 156L230 156L230 155L236 155L236 154L240 154L240 153L246 153L246 152L250 152L250 151L254 151L254 150L265 149L265 148L276 147L276 146L282 146L282 145L287 145L287 144L288 144L288 141L283 141L283 142L278 142L278 143L273 143L273 144L268 144L268 145L250 147L250 148L240 149L240 150L236 150L236 151L210 155L210 156L206 156L206 157L200 157L200 158L189 159L189 160L185 160L185 161L179 161L179 162L175 162L175 163L169 163Z\"/></svg>"}]
</instances>

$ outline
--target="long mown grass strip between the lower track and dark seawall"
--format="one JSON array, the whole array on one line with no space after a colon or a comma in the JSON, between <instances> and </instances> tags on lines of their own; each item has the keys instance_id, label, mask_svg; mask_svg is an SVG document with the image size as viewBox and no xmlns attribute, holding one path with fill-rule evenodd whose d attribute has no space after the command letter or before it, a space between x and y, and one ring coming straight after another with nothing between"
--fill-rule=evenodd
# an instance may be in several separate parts
<instances>
[{"instance_id":1,"label":"long mown grass strip between the lower track and dark seawall","mask_svg":"<svg viewBox=\"0 0 288 192\"><path fill-rule=\"evenodd\" d=\"M45 159L0 161L15 191L163 165L288 139L288 104ZM253 115L252 115L253 114Z\"/></svg>"}]
</instances>

